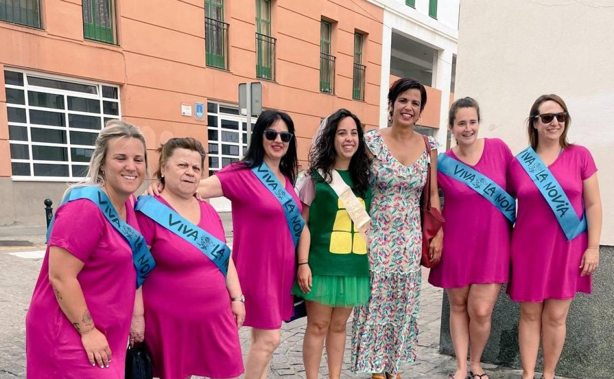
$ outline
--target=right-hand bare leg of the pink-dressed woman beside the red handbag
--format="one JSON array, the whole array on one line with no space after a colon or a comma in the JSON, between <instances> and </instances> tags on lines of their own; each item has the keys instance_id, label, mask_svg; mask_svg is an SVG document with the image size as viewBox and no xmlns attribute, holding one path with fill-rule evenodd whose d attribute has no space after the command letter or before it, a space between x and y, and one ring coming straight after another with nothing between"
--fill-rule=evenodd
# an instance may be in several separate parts
<instances>
[{"instance_id":1,"label":"right-hand bare leg of the pink-dressed woman beside the red handbag","mask_svg":"<svg viewBox=\"0 0 614 379\"><path fill-rule=\"evenodd\" d=\"M481 360L484 346L491 335L492 308L497 302L500 283L473 284L469 288L467 310L469 313L469 369L475 374L482 374ZM472 378L473 379L473 378Z\"/></svg>"}]
</instances>

